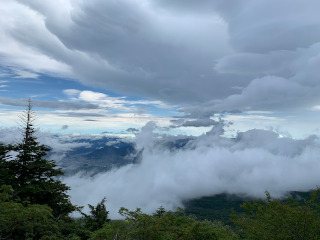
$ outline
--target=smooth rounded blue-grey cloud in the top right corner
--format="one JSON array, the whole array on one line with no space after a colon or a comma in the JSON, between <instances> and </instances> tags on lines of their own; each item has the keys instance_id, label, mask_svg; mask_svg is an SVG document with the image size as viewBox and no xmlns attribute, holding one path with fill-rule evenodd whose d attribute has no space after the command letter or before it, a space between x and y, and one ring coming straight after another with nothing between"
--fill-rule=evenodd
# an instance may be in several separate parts
<instances>
[{"instance_id":1,"label":"smooth rounded blue-grey cloud in the top right corner","mask_svg":"<svg viewBox=\"0 0 320 240\"><path fill-rule=\"evenodd\" d=\"M316 0L308 4L290 0L215 2L229 24L233 45L241 51L294 50L319 41Z\"/></svg>"}]
</instances>

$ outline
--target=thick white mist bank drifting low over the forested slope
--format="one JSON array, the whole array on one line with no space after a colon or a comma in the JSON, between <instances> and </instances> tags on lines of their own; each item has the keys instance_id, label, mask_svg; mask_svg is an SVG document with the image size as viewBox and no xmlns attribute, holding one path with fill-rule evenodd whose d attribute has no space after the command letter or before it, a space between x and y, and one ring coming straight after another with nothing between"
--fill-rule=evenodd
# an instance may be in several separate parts
<instances>
[{"instance_id":1,"label":"thick white mist bank drifting low over the forested slope","mask_svg":"<svg viewBox=\"0 0 320 240\"><path fill-rule=\"evenodd\" d=\"M273 197L283 197L319 184L316 136L295 140L254 129L227 138L223 127L218 124L184 147L168 149L163 143L179 137L159 135L156 125L148 123L136 137L137 151L142 152L139 163L94 177L82 172L63 181L71 187L74 204L87 206L106 197L111 218L119 218L120 207L150 213L220 193L263 198L267 190Z\"/></svg>"}]
</instances>

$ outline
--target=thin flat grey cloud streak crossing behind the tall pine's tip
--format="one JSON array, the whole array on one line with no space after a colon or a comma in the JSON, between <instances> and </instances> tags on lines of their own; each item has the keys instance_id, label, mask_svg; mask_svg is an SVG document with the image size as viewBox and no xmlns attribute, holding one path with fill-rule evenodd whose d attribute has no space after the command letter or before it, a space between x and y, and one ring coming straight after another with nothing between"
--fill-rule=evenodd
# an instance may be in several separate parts
<instances>
[{"instance_id":1,"label":"thin flat grey cloud streak crossing behind the tall pine's tip","mask_svg":"<svg viewBox=\"0 0 320 240\"><path fill-rule=\"evenodd\" d=\"M27 99L13 99L0 97L0 103L8 106L22 106L26 107L28 104ZM50 102L32 100L33 107L39 108L53 108L53 109L65 109L65 110L80 110L80 109L98 109L99 106L91 103L73 103L73 102Z\"/></svg>"}]
</instances>

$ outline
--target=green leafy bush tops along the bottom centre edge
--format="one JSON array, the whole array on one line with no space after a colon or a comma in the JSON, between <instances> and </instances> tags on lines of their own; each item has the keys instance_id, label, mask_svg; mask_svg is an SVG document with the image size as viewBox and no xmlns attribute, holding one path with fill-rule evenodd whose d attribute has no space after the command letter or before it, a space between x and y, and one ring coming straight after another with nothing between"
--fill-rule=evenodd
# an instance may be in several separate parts
<instances>
[{"instance_id":1,"label":"green leafy bush tops along the bottom centre edge","mask_svg":"<svg viewBox=\"0 0 320 240\"><path fill-rule=\"evenodd\" d=\"M185 215L181 209L166 212L161 207L153 215L148 215L139 208L136 211L121 208L119 213L125 217L124 221L105 224L103 228L93 232L90 240L237 239L236 234L222 224L198 221Z\"/></svg>"}]
</instances>

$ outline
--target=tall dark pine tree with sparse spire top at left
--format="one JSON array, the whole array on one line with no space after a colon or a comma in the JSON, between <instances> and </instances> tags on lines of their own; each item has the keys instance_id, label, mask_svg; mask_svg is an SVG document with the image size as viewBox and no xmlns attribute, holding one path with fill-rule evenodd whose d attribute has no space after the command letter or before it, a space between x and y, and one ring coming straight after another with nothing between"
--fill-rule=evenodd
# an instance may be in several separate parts
<instances>
[{"instance_id":1,"label":"tall dark pine tree with sparse spire top at left","mask_svg":"<svg viewBox=\"0 0 320 240\"><path fill-rule=\"evenodd\" d=\"M29 100L28 107L20 117L22 122L22 140L13 150L16 157L9 161L8 170L14 172L14 180L8 182L21 201L31 204L47 204L55 217L67 216L75 210L67 191L70 189L57 177L63 172L53 160L45 159L50 150L40 144L33 126L35 113Z\"/></svg>"}]
</instances>

